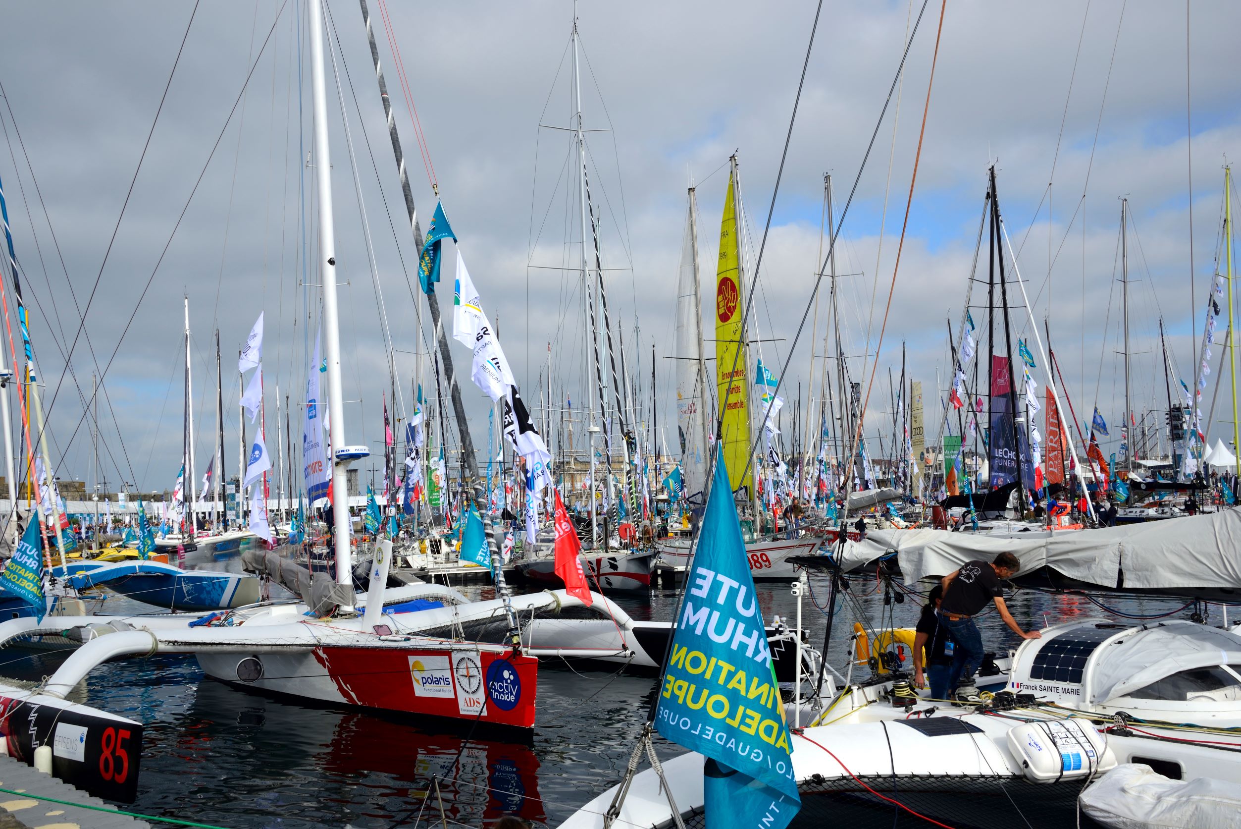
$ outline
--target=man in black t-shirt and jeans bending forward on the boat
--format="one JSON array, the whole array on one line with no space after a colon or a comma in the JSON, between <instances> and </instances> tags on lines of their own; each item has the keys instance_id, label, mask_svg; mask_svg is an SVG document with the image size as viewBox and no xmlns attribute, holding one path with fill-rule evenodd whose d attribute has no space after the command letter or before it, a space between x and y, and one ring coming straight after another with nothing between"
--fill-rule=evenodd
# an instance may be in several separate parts
<instances>
[{"instance_id":1,"label":"man in black t-shirt and jeans bending forward on the boat","mask_svg":"<svg viewBox=\"0 0 1241 829\"><path fill-rule=\"evenodd\" d=\"M1011 552L1001 552L995 561L967 561L958 570L948 573L941 582L943 602L939 606L939 623L948 629L954 643L949 688L963 689L973 686L974 671L983 663L983 637L974 624L973 617L988 604L995 602L1004 624L1023 639L1040 639L1037 630L1026 633L1009 613L1004 603L1001 578L1009 578L1020 570L1021 563ZM975 702L977 699L967 699Z\"/></svg>"}]
</instances>

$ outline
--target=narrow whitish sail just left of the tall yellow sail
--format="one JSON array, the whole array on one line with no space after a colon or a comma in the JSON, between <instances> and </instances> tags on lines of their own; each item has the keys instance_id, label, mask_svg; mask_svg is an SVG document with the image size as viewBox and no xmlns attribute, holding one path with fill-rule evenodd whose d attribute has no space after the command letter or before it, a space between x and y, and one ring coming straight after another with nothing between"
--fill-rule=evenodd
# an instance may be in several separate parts
<instances>
[{"instance_id":1,"label":"narrow whitish sail just left of the tall yellow sail","mask_svg":"<svg viewBox=\"0 0 1241 829\"><path fill-rule=\"evenodd\" d=\"M676 287L676 428L681 452L681 479L686 499L701 500L706 486L707 437L704 418L710 410L702 361L702 310L699 300L697 251L694 249L694 200L685 221L680 279ZM697 496L697 498L695 498Z\"/></svg>"}]
</instances>

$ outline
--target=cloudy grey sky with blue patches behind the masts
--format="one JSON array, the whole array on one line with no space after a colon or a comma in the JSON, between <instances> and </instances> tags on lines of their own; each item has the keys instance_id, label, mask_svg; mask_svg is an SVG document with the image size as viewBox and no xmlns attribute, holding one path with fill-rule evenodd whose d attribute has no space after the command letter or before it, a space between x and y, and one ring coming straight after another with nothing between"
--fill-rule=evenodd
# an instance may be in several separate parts
<instances>
[{"instance_id":1,"label":"cloudy grey sky with blue patches behind the masts","mask_svg":"<svg viewBox=\"0 0 1241 829\"><path fill-rule=\"evenodd\" d=\"M349 282L340 293L346 432L350 443L374 447L382 439L387 386L375 282L397 350L400 416L410 407L412 352L426 351L410 288L416 252L359 6L351 0L328 6L377 267L372 278L329 66L338 269ZM752 336L774 340L762 346L768 365L789 357L797 320L812 298L823 176L833 175L839 216L921 9L906 1L824 4L759 272ZM537 403L550 377L555 393L570 395L576 408L586 367L580 277L557 268L580 256L581 230L571 138L553 129L567 127L572 115L572 4L392 2L382 10L439 196L525 396ZM189 0L6 2L4 11L0 176L60 474L92 474L83 406L98 371L107 390L99 428L110 486L171 485L181 447L184 295L200 473L215 428L213 331L220 329L225 364L226 469L235 474L233 356L261 310L268 434L279 385L282 417L284 396L293 402L297 439L319 305L318 274L303 266L303 252L315 244L316 210L313 170L303 165L310 144L304 4L212 0L195 10ZM377 0L371 11L424 228L434 208L432 176ZM661 423L674 413L675 362L665 357L673 355L686 186L691 179L699 185L700 248L710 263L727 184L721 166L737 150L748 241L757 251L814 11L802 0L578 7L585 122L597 130L588 135L591 187L602 217L609 309L624 333L627 369L644 386L655 346ZM840 279L844 349L855 356L851 371L864 385L874 357L864 366L861 355L875 351L894 279L938 20L939 5L931 2L838 247L838 271L848 274ZM1193 299L1204 305L1220 244L1222 164L1230 151L1241 151L1241 82L1222 71L1239 21L1235 4L1193 2L1186 47L1186 7L1179 2L948 2L871 396L870 439L877 439L879 416L889 408L887 370L900 372L902 343L910 376L928 390L933 421L938 393L931 390L937 377L947 385L949 374L946 320L958 328L992 163L1034 315L1040 328L1047 318L1078 415L1096 400L1109 421L1123 408L1114 354L1122 196L1133 220L1133 408L1140 416L1165 405L1160 316L1174 367L1193 382L1191 285ZM447 267L450 287L450 258ZM702 279L710 314L714 274ZM450 288L444 293L447 308ZM985 309L972 315L985 319ZM1028 336L1029 325L1015 319L1014 336ZM798 382L808 395L808 346L818 340L822 354L824 323L820 308L818 334L807 330L792 352L789 400ZM1196 328L1200 336L1200 320ZM464 365L468 352L453 347ZM1204 415L1214 380L1227 375L1226 365L1220 371L1221 350L1215 347ZM433 385L429 365L423 357L424 387ZM813 375L819 370L817 362ZM483 443L488 406L472 385L464 392L474 441ZM1212 434L1230 438L1227 390L1221 397ZM645 388L643 405L649 412ZM268 443L274 452L276 441Z\"/></svg>"}]
</instances>

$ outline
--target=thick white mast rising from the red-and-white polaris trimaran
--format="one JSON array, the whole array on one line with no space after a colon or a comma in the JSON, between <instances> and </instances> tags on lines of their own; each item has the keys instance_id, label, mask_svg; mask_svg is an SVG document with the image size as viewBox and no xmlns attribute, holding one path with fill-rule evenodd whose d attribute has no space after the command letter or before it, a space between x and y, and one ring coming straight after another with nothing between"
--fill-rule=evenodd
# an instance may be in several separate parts
<instances>
[{"instance_id":1,"label":"thick white mast rising from the red-and-white polaris trimaran","mask_svg":"<svg viewBox=\"0 0 1241 829\"><path fill-rule=\"evenodd\" d=\"M345 407L340 383L340 320L336 314L336 235L331 213L331 153L328 146L328 92L323 72L323 6L310 0L310 89L314 102L314 175L319 187L319 267L323 273L323 329L328 364L328 432L333 453L345 446ZM352 587L349 567L349 485L345 463L331 459L331 489L340 501L333 510L336 582Z\"/></svg>"}]
</instances>

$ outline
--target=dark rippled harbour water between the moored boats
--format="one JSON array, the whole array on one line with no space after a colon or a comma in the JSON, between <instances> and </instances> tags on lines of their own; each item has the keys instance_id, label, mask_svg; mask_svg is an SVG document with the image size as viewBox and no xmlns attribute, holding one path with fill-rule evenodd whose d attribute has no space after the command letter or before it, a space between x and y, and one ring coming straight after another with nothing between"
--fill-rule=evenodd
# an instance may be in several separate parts
<instances>
[{"instance_id":1,"label":"dark rippled harbour water between the moored boats","mask_svg":"<svg viewBox=\"0 0 1241 829\"><path fill-rule=\"evenodd\" d=\"M828 585L825 577L812 576L803 604L803 627L817 645L827 621L817 604L825 608ZM854 582L855 596L838 606L829 661L841 671L859 611L877 627L912 625L917 619L917 597L885 606L875 591L872 580ZM490 596L491 588L463 592ZM792 623L797 606L787 583L761 583L758 593L768 621L779 614ZM666 619L676 594L671 589L653 591L649 598L618 593L616 599L635 618ZM140 607L119 598L105 604L108 613ZM1134 599L1108 604L1137 614L1180 608L1180 603ZM1018 592L1009 607L1026 627L1106 614L1081 597L1031 591ZM1176 616L1188 617L1191 609ZM989 649L1000 652L1016 642L994 611L980 627ZM10 649L0 674L37 680L58 659ZM139 794L129 807L139 813L228 829L379 829L442 818L448 825L480 827L504 814L556 825L619 781L654 688L650 678L575 671L545 660L529 745L257 696L204 678L189 656L103 665L87 679L82 701L145 724ZM665 757L681 751L663 741L656 745Z\"/></svg>"}]
</instances>

